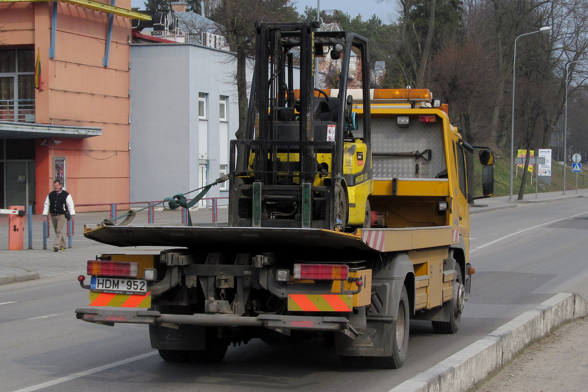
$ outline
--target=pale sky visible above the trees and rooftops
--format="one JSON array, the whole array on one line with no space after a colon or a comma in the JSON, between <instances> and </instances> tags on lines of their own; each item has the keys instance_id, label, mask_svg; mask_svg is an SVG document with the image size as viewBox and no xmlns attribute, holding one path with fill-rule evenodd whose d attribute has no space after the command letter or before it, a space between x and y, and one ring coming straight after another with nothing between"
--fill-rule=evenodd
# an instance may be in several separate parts
<instances>
[{"instance_id":1,"label":"pale sky visible above the trees and rooftops","mask_svg":"<svg viewBox=\"0 0 588 392\"><path fill-rule=\"evenodd\" d=\"M302 14L307 5L316 8L318 1L293 0L293 2L296 4L298 12ZM145 1L143 0L131 0L131 4L133 7L145 9ZM377 3L376 0L320 0L320 9L339 9L352 17L361 14L364 21L376 14L384 24L389 24L389 14L392 14L393 21L396 19L396 4L396 0L384 0L380 3Z\"/></svg>"}]
</instances>

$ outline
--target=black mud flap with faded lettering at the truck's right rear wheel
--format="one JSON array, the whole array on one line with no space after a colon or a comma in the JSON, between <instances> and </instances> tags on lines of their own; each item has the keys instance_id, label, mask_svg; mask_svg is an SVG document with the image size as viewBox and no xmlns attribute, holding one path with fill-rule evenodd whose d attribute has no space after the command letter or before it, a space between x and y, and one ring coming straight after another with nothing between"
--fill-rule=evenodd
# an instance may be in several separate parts
<instances>
[{"instance_id":1,"label":"black mud flap with faded lettering at the truck's right rear wheel","mask_svg":"<svg viewBox=\"0 0 588 392\"><path fill-rule=\"evenodd\" d=\"M353 340L342 333L335 334L335 351L342 356L389 357L392 356L393 324L368 321L368 326L359 331Z\"/></svg>"}]
</instances>

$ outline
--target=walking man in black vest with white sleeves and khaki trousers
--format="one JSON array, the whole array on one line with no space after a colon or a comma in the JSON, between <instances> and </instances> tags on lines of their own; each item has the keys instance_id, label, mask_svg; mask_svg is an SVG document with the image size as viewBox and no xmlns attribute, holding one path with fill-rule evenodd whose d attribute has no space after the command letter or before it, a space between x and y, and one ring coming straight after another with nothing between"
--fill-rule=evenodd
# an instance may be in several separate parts
<instances>
[{"instance_id":1,"label":"walking man in black vest with white sleeves and khaki trousers","mask_svg":"<svg viewBox=\"0 0 588 392\"><path fill-rule=\"evenodd\" d=\"M43 206L43 222L47 222L47 216L51 215L51 222L55 230L54 252L65 250L64 226L70 217L75 215L74 199L63 189L61 180L53 183L53 192L49 192Z\"/></svg>"}]
</instances>

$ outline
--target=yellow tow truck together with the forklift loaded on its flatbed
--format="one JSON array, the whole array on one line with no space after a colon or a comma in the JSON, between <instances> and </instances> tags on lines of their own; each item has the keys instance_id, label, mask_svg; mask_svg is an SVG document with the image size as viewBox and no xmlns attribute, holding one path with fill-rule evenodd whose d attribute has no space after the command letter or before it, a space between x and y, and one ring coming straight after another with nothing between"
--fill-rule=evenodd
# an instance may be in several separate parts
<instances>
[{"instance_id":1,"label":"yellow tow truck together with the forklift loaded on its flatbed","mask_svg":"<svg viewBox=\"0 0 588 392\"><path fill-rule=\"evenodd\" d=\"M343 363L397 368L410 319L456 333L474 273L466 156L478 153L487 197L492 151L462 140L427 89L370 90L369 72L364 88L348 88L350 63L369 69L368 41L316 27L257 25L247 136L230 146L229 222L87 225L98 242L172 249L88 261L78 319L149 324L167 361L220 361L255 338L314 339ZM341 63L337 89L315 88L327 54Z\"/></svg>"}]
</instances>

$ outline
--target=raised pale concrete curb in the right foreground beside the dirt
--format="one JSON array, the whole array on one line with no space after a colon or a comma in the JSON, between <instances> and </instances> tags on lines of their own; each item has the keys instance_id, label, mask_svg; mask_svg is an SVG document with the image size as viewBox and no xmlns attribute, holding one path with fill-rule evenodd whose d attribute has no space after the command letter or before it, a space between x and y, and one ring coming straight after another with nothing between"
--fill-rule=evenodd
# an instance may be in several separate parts
<instances>
[{"instance_id":1,"label":"raised pale concrete curb in the right foreground beside the dirt","mask_svg":"<svg viewBox=\"0 0 588 392\"><path fill-rule=\"evenodd\" d=\"M584 297L557 294L389 392L465 392L554 327L587 314Z\"/></svg>"}]
</instances>

